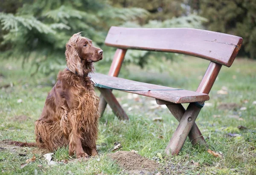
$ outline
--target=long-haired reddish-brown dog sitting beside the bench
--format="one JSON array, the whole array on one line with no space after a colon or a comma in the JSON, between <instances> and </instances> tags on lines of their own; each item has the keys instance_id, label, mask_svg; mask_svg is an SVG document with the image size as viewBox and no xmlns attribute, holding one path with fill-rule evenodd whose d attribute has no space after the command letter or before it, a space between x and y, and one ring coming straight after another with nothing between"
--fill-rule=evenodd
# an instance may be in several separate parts
<instances>
[{"instance_id":1,"label":"long-haired reddish-brown dog sitting beside the bench","mask_svg":"<svg viewBox=\"0 0 256 175\"><path fill-rule=\"evenodd\" d=\"M35 121L36 143L10 143L50 151L69 146L69 154L76 154L77 158L98 155L99 98L88 73L94 70L93 62L102 60L102 54L92 40L74 34L66 44L67 69L58 73L41 117Z\"/></svg>"}]
</instances>

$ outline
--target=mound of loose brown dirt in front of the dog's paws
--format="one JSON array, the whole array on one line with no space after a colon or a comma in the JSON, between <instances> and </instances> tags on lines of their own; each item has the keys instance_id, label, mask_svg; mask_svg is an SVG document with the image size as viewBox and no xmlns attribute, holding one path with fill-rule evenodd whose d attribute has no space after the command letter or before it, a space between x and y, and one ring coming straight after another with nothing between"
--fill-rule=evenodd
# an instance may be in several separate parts
<instances>
[{"instance_id":1,"label":"mound of loose brown dirt in front of the dog's paws","mask_svg":"<svg viewBox=\"0 0 256 175\"><path fill-rule=\"evenodd\" d=\"M159 167L156 162L135 152L118 151L109 156L131 174L152 174Z\"/></svg>"}]
</instances>

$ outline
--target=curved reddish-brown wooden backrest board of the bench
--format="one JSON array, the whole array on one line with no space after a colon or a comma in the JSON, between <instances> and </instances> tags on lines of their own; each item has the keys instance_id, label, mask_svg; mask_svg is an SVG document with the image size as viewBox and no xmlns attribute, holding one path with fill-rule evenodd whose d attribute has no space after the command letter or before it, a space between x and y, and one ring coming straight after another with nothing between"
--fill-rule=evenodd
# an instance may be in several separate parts
<instances>
[{"instance_id":1,"label":"curved reddish-brown wooden backrest board of the bench","mask_svg":"<svg viewBox=\"0 0 256 175\"><path fill-rule=\"evenodd\" d=\"M120 49L192 55L230 67L243 39L230 34L189 28L111 27L105 44Z\"/></svg>"}]
</instances>

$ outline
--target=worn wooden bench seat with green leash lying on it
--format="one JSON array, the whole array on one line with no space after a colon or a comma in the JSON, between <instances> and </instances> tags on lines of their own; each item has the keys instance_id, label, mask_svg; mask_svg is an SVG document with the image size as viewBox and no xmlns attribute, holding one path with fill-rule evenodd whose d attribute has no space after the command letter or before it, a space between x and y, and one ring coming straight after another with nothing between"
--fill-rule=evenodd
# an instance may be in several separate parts
<instances>
[{"instance_id":1,"label":"worn wooden bench seat with green leash lying on it","mask_svg":"<svg viewBox=\"0 0 256 175\"><path fill-rule=\"evenodd\" d=\"M149 83L142 83L133 80L127 80L119 77L111 77L108 75L95 73L90 74L92 79L99 84L103 84L105 86L110 86L117 89L177 89L166 86L159 86ZM160 100L169 101L172 103L192 103L198 101L206 101L209 100L209 95L188 91L188 90L161 90L161 91L124 91L130 92L138 95L143 95L151 98L156 98Z\"/></svg>"}]
</instances>

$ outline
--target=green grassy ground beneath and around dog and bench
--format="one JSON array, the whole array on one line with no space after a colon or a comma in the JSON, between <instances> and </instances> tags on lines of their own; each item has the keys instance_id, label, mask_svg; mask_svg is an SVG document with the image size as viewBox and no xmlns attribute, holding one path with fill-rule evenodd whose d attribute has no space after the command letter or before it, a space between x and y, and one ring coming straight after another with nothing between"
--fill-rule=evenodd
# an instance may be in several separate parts
<instances>
[{"instance_id":1,"label":"green grassy ground beneath and around dog and bench","mask_svg":"<svg viewBox=\"0 0 256 175\"><path fill-rule=\"evenodd\" d=\"M208 63L207 60L185 57L175 63L163 64L167 72L159 73L154 67L140 70L130 66L123 69L120 76L195 90ZM68 156L67 148L61 148L55 152L53 160L67 159L68 163L49 166L42 156L45 152L16 146L7 148L3 140L34 141L34 121L41 114L56 75L30 77L19 62L1 61L0 86L4 87L0 89L0 174L129 174L108 156L115 143L121 143L122 150L134 149L145 158L159 162L156 172L162 175L256 174L255 67L256 61L245 59L235 60L231 68L223 67L210 93L211 99L196 121L209 148L222 152L222 158L210 155L203 147L191 146L189 140L178 156L166 156L164 149L178 124L168 109L156 105L151 98L114 92L130 120L120 121L111 109L106 109L99 122L99 157L78 161ZM100 66L96 69L107 71ZM13 86L9 86L10 83ZM156 117L162 119L154 121ZM246 129L239 129L239 125ZM35 162L20 168L33 155Z\"/></svg>"}]
</instances>

